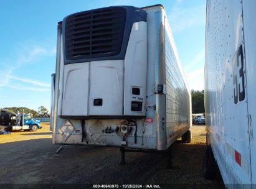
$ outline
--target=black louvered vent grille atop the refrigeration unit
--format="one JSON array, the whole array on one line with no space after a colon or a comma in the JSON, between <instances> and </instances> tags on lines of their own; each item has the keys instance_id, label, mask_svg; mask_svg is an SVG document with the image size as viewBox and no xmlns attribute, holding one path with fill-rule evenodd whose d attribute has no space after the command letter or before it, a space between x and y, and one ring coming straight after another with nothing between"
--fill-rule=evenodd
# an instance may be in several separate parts
<instances>
[{"instance_id":1,"label":"black louvered vent grille atop the refrigeration unit","mask_svg":"<svg viewBox=\"0 0 256 189\"><path fill-rule=\"evenodd\" d=\"M108 7L79 12L65 21L65 50L69 60L118 55L123 41L126 9Z\"/></svg>"}]
</instances>

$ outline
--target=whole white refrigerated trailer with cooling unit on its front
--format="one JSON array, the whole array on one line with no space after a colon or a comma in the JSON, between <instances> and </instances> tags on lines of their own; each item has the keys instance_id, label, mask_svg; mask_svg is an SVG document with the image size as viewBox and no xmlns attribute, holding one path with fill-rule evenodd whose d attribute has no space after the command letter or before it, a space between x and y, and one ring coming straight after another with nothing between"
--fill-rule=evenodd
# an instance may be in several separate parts
<instances>
[{"instance_id":1,"label":"whole white refrigerated trailer with cooling unit on its front","mask_svg":"<svg viewBox=\"0 0 256 189\"><path fill-rule=\"evenodd\" d=\"M164 7L104 7L59 22L51 113L53 144L123 154L190 142L191 94Z\"/></svg>"}]
</instances>

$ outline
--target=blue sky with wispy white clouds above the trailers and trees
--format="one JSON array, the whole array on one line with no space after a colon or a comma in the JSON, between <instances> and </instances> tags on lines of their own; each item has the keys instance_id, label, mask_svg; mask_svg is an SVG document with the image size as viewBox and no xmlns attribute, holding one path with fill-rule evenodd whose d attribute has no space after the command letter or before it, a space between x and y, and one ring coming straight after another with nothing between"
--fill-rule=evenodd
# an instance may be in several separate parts
<instances>
[{"instance_id":1,"label":"blue sky with wispy white clouds above the trailers and trees","mask_svg":"<svg viewBox=\"0 0 256 189\"><path fill-rule=\"evenodd\" d=\"M74 12L105 6L163 4L190 89L203 90L206 0L0 2L0 108L50 109L57 22Z\"/></svg>"}]
</instances>

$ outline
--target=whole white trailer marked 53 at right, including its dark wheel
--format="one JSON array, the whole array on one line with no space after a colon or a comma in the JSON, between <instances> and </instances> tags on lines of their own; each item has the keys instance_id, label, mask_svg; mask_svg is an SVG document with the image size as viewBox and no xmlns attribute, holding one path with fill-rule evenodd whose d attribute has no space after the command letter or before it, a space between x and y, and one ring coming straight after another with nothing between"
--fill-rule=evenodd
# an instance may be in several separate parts
<instances>
[{"instance_id":1,"label":"whole white trailer marked 53 at right, including its dark wheel","mask_svg":"<svg viewBox=\"0 0 256 189\"><path fill-rule=\"evenodd\" d=\"M227 188L256 184L256 1L208 0L204 171ZM217 165L216 165L216 161Z\"/></svg>"}]
</instances>

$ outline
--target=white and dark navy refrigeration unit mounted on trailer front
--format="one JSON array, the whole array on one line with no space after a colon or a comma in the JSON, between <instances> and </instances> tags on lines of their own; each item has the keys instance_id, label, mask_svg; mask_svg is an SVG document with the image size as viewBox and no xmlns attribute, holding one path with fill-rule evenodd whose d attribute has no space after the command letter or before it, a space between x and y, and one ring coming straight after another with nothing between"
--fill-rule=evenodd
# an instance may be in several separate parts
<instances>
[{"instance_id":1,"label":"white and dark navy refrigeration unit mounted on trailer front","mask_svg":"<svg viewBox=\"0 0 256 189\"><path fill-rule=\"evenodd\" d=\"M116 6L65 17L59 116L145 116L146 15Z\"/></svg>"}]
</instances>

